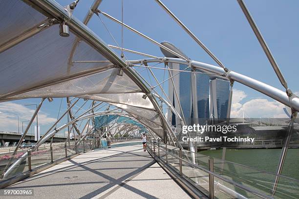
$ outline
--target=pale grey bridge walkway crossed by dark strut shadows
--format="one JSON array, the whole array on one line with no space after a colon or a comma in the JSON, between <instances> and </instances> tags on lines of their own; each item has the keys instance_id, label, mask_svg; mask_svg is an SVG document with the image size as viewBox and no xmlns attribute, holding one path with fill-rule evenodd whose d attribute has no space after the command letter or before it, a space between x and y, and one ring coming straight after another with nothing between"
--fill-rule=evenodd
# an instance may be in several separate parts
<instances>
[{"instance_id":1,"label":"pale grey bridge walkway crossed by dark strut shadows","mask_svg":"<svg viewBox=\"0 0 299 199\"><path fill-rule=\"evenodd\" d=\"M87 152L5 189L33 189L36 199L190 198L140 141Z\"/></svg>"}]
</instances>

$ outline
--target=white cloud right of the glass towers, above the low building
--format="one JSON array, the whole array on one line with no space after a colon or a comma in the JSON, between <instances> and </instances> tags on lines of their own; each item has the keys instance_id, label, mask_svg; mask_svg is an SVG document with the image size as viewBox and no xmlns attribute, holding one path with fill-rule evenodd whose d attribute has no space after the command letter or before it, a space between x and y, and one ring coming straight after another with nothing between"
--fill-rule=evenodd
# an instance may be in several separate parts
<instances>
[{"instance_id":1,"label":"white cloud right of the glass towers, above the low building","mask_svg":"<svg viewBox=\"0 0 299 199\"><path fill-rule=\"evenodd\" d=\"M285 107L278 101L270 101L267 99L252 99L244 102L240 102L245 99L247 95L244 91L236 90L233 91L233 101L231 118L242 118L243 113L245 117L250 118L286 118L286 114L283 111Z\"/></svg>"}]
</instances>

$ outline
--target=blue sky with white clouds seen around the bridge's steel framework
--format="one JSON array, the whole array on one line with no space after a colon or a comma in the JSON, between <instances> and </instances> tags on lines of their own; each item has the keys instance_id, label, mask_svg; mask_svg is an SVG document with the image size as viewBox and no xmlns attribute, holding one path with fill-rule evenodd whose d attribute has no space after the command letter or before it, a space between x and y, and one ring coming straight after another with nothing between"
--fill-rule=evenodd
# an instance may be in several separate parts
<instances>
[{"instance_id":1,"label":"blue sky with white clouds seen around the bridge's steel framework","mask_svg":"<svg viewBox=\"0 0 299 199\"><path fill-rule=\"evenodd\" d=\"M155 0L123 0L124 23L150 38L169 41L192 60L217 65L184 30L171 19ZM280 90L280 84L270 62L265 56L248 21L236 0L162 0L171 11L221 60L230 70L260 80ZM69 0L57 0L61 5ZM83 20L93 0L80 0L74 16ZM256 24L266 40L289 88L299 94L299 1L298 0L245 0ZM121 0L103 0L100 10L121 20ZM101 15L100 15L101 16ZM117 43L121 44L121 26L101 16ZM97 16L88 27L107 44L117 45ZM124 29L124 48L164 57L158 46ZM120 54L119 51L116 53ZM143 59L139 55L125 53L128 60ZM163 71L154 70L159 81ZM142 75L149 80L147 73ZM149 80L154 82L153 79ZM40 99L15 100L0 103L0 131L17 131L18 117L29 120ZM61 99L45 101L39 113L42 132L55 122ZM78 106L83 102L79 102ZM232 117L267 118L282 117L283 104L239 83L234 84ZM75 107L76 108L76 107ZM65 99L61 112L66 109ZM60 113L61 113L60 112ZM64 122L65 120L62 120ZM26 123L26 122L24 122Z\"/></svg>"}]
</instances>

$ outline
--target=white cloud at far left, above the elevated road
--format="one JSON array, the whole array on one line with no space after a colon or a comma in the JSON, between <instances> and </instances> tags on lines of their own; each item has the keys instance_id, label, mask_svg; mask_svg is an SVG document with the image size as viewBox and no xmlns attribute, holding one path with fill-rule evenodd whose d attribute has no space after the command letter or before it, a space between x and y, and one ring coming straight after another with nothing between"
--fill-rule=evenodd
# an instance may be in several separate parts
<instances>
[{"instance_id":1,"label":"white cloud at far left, above the elevated road","mask_svg":"<svg viewBox=\"0 0 299 199\"><path fill-rule=\"evenodd\" d=\"M17 131L18 116L21 128L21 121L30 120L34 111L34 109L10 101L0 103L0 131ZM55 121L55 118L48 117L48 114L42 111L38 113L39 125L46 125Z\"/></svg>"}]
</instances>

